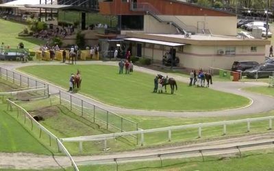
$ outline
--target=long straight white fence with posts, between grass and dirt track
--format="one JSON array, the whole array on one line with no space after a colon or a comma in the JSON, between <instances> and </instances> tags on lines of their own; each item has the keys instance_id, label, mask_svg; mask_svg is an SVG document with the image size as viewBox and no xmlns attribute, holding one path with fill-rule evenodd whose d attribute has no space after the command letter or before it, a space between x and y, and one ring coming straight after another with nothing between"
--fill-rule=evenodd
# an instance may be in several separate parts
<instances>
[{"instance_id":1,"label":"long straight white fence with posts, between grass and dirt track","mask_svg":"<svg viewBox=\"0 0 274 171\"><path fill-rule=\"evenodd\" d=\"M129 131L123 133L109 133L109 134L101 134L101 135L90 135L90 136L81 136L81 137L69 137L69 138L61 138L62 142L92 142L92 141L100 141L114 139L116 137L126 136L126 135L140 135L140 145L143 146L145 142L145 133L155 133L155 132L163 132L168 131L168 141L171 142L172 131L182 130L182 129L198 129L198 137L201 137L202 128L204 127L216 127L223 126L223 135L227 134L227 125L228 124L236 124L236 123L247 123L247 131L250 131L251 122L257 122L262 120L269 120L269 129L272 129L272 120L274 116L267 116L262 118L247 118L242 120L229 120L229 121L221 121L221 122L209 122L209 123L199 123L199 124L186 124L174 127L162 127L157 129L139 129L138 131Z\"/></svg>"}]
</instances>

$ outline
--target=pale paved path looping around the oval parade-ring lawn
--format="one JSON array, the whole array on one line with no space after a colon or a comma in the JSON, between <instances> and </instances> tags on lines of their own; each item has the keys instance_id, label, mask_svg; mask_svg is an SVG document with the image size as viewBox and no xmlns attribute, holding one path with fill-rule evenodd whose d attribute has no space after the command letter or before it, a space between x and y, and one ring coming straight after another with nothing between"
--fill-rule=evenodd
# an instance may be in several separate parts
<instances>
[{"instance_id":1,"label":"pale paved path looping around the oval parade-ring lawn","mask_svg":"<svg viewBox=\"0 0 274 171\"><path fill-rule=\"evenodd\" d=\"M40 62L40 63L4 63L0 64L1 67L7 68L8 70L16 70L16 68L21 66L29 66L29 65L64 65L60 62ZM117 65L116 62L78 62L77 64L104 64L104 65ZM148 73L151 75L157 75L158 71L150 70L147 68L142 68L138 66L134 66L134 70L138 70L143 73ZM164 73L161 73L165 75ZM180 77L177 75L169 75L169 77L174 77L178 81L183 81L188 83L188 78ZM35 78L36 79L36 78ZM55 86L51 83L50 85L50 93L59 92L59 90L64 90L58 86ZM254 94L251 92L242 91L241 88L247 88L251 86L268 86L267 83L262 82L232 82L232 81L214 81L213 85L210 86L213 90L219 90L222 92L229 92L233 94L238 94L240 96L245 96L249 98L250 104L246 107L241 107L238 109L225 109L220 111L147 111L141 109L125 109L121 107L114 107L111 105L107 105L96 101L95 99L88 98L86 96L82 96L81 94L73 94L73 96L83 99L84 101L88 101L98 107L103 109L107 109L117 114L131 114L138 116L164 116L164 117L208 117L208 116L233 116L233 115L245 115L245 114L258 114L260 112L271 111L274 109L274 98L271 96L265 96L262 94Z\"/></svg>"}]
</instances>

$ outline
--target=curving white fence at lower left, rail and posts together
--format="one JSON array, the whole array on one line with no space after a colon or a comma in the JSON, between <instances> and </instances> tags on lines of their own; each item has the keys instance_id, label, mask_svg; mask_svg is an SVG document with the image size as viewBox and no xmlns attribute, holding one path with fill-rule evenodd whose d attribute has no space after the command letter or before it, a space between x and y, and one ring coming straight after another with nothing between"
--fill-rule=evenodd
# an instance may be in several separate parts
<instances>
[{"instance_id":1,"label":"curving white fence at lower left, rail and posts together","mask_svg":"<svg viewBox=\"0 0 274 171\"><path fill-rule=\"evenodd\" d=\"M39 122L37 122L25 109L23 109L23 107L17 105L16 103L10 101L7 99L7 104L8 104L8 110L12 111L13 107L16 107L16 111L17 111L17 119L19 118L19 115L22 114L24 116L24 124L27 123L27 119L30 121L31 124L31 130L34 130L34 126L38 127L40 133L39 133L39 138L42 137L42 133L45 133L46 135L49 136L49 146L52 146L52 140L55 140L55 142L58 145L58 151L62 150L62 152L69 157L69 159L71 160L71 164L74 168L74 170L78 171L79 169L77 168L77 165L75 163L75 161L73 160L73 158L71 157L71 155L69 154L69 151L66 150L66 148L64 147L64 145L62 144L62 142L60 142L60 140L58 139L58 137L56 137L53 133L51 133L51 131L47 130L45 127L42 126L42 124L40 124Z\"/></svg>"}]
</instances>

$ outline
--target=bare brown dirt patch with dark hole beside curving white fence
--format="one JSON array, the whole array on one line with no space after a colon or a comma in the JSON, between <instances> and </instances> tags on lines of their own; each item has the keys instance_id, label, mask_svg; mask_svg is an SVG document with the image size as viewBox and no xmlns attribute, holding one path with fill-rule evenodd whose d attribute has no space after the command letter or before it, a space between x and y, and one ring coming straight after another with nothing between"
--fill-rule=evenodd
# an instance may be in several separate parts
<instances>
[{"instance_id":1,"label":"bare brown dirt patch with dark hole beside curving white fence","mask_svg":"<svg viewBox=\"0 0 274 171\"><path fill-rule=\"evenodd\" d=\"M37 116L37 118L40 118L39 120L45 120L52 116L58 115L59 112L60 111L57 107L52 106L52 107L43 107L35 111L29 111L29 114L31 114L32 116Z\"/></svg>"}]
</instances>

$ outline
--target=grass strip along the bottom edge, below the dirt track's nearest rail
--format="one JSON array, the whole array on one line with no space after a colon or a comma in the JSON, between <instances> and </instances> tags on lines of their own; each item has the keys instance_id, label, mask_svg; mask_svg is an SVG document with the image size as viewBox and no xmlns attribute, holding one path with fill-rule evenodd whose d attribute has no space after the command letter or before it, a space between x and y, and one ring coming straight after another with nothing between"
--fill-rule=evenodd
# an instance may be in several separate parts
<instances>
[{"instance_id":1,"label":"grass strip along the bottom edge, below the dirt track's nearest rail","mask_svg":"<svg viewBox=\"0 0 274 171\"><path fill-rule=\"evenodd\" d=\"M239 158L238 155L231 157L205 157L205 161L202 161L201 157L188 158L188 159L163 159L162 167L160 159L157 161L142 161L134 163L119 163L119 170L140 170L140 171L156 171L156 170L223 170L223 171L244 171L244 170L273 170L273 157L274 153L272 149L245 152L244 155ZM116 164L101 165L101 166L80 166L80 170L116 170Z\"/></svg>"}]
</instances>

